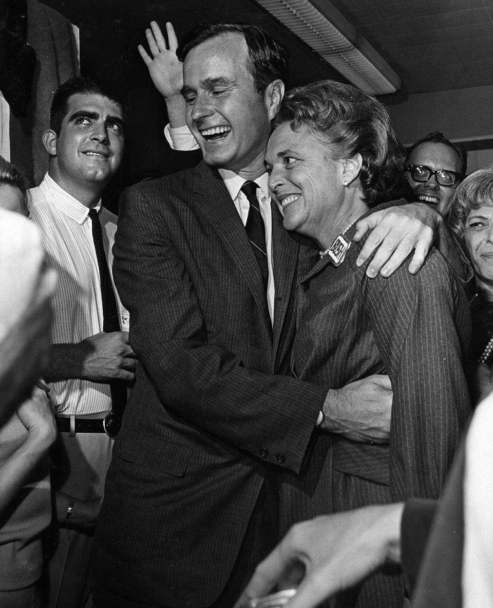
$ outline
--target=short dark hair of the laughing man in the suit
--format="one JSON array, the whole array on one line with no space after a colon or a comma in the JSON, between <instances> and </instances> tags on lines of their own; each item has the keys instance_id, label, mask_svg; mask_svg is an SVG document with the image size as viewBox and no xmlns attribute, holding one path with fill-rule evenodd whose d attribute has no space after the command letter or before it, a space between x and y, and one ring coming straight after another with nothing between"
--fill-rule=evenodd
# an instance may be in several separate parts
<instances>
[{"instance_id":1,"label":"short dark hair of the laughing man in the suit","mask_svg":"<svg viewBox=\"0 0 493 608\"><path fill-rule=\"evenodd\" d=\"M288 52L272 36L257 26L246 23L211 23L202 22L185 35L176 50L180 61L185 61L188 52L210 38L227 33L238 33L244 36L248 59L247 70L252 74L255 91L263 93L273 80L280 78L284 83L288 79Z\"/></svg>"}]
</instances>

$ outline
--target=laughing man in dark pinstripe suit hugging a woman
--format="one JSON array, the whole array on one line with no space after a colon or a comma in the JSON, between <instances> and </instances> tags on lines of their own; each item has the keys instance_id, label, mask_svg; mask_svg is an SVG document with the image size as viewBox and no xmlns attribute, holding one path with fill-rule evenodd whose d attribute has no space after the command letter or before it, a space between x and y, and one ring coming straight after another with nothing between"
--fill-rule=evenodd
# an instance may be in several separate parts
<instances>
[{"instance_id":1,"label":"laughing man in dark pinstripe suit hugging a woman","mask_svg":"<svg viewBox=\"0 0 493 608\"><path fill-rule=\"evenodd\" d=\"M114 275L140 363L96 531L98 607L231 606L274 546L277 471L302 469L315 427L388 435L385 378L326 393L288 376L297 279L317 251L267 191L283 50L214 24L177 54L204 162L120 201Z\"/></svg>"}]
</instances>

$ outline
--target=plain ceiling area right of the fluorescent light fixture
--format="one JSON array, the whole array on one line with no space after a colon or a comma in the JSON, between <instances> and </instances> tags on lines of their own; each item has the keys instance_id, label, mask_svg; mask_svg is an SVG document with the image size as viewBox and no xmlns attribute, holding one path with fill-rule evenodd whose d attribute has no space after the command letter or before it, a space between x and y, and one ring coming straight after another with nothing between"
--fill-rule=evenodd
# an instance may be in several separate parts
<instances>
[{"instance_id":1,"label":"plain ceiling area right of the fluorescent light fixture","mask_svg":"<svg viewBox=\"0 0 493 608\"><path fill-rule=\"evenodd\" d=\"M333 0L406 94L492 85L493 0Z\"/></svg>"}]
</instances>

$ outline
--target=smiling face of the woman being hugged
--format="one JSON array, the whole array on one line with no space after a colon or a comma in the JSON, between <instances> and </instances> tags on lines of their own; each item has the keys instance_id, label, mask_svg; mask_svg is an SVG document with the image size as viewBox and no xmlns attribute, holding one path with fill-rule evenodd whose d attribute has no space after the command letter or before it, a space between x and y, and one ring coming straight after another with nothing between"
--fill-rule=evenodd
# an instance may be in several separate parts
<instances>
[{"instance_id":1,"label":"smiling face of the woman being hugged","mask_svg":"<svg viewBox=\"0 0 493 608\"><path fill-rule=\"evenodd\" d=\"M293 131L282 123L267 145L266 167L271 196L281 207L284 228L320 243L323 227L344 201L342 162L305 127Z\"/></svg>"}]
</instances>

